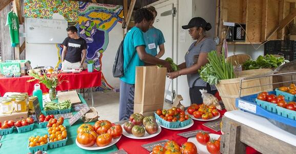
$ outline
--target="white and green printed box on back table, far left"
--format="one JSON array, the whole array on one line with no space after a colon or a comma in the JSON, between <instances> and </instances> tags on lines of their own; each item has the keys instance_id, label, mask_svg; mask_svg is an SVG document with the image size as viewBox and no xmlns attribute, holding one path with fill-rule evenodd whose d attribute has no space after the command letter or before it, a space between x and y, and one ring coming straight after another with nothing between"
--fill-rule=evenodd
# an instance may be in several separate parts
<instances>
[{"instance_id":1,"label":"white and green printed box on back table, far left","mask_svg":"<svg viewBox=\"0 0 296 154\"><path fill-rule=\"evenodd\" d=\"M25 75L29 69L32 69L28 60L7 60L0 63L0 72L7 73L22 73Z\"/></svg>"}]
</instances>

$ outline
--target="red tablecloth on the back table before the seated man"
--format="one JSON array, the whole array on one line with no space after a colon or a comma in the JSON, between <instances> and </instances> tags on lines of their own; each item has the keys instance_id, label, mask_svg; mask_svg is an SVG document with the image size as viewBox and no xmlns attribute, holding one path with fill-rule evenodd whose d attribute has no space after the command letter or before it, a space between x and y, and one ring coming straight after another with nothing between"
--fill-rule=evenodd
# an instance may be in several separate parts
<instances>
[{"instance_id":1,"label":"red tablecloth on the back table before the seated man","mask_svg":"<svg viewBox=\"0 0 296 154\"><path fill-rule=\"evenodd\" d=\"M83 70L80 73L60 73L61 79L69 82L61 83L56 90L72 90L98 87L101 85L101 72L94 70L89 73L87 70ZM20 78L0 78L0 95L3 96L6 92L28 92L32 95L34 85L39 83L38 81L27 82L33 79L32 76L26 75ZM45 93L49 89L44 84L40 84L41 90Z\"/></svg>"}]
</instances>

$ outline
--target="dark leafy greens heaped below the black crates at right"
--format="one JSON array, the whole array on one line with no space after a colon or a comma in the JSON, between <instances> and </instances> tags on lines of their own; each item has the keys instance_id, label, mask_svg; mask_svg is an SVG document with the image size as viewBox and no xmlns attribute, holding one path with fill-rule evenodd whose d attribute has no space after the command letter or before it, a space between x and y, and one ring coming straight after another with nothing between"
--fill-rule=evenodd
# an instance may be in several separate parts
<instances>
[{"instance_id":1,"label":"dark leafy greens heaped below the black crates at right","mask_svg":"<svg viewBox=\"0 0 296 154\"><path fill-rule=\"evenodd\" d=\"M259 68L277 68L285 61L283 57L274 57L272 55L259 56L257 60L247 60L243 63L243 70Z\"/></svg>"}]
</instances>

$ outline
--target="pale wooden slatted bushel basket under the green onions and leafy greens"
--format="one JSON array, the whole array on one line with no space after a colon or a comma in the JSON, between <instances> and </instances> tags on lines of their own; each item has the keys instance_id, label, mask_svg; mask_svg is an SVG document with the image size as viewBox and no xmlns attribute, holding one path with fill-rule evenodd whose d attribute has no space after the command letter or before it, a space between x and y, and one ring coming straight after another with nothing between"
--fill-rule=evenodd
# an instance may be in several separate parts
<instances>
[{"instance_id":1,"label":"pale wooden slatted bushel basket under the green onions and leafy greens","mask_svg":"<svg viewBox=\"0 0 296 154\"><path fill-rule=\"evenodd\" d=\"M272 74L271 69L253 69L253 70L244 70L237 74L238 78L235 79L227 79L221 80L217 85L217 90L221 96L225 109L227 111L237 110L236 108L236 98L239 97L240 91L240 79L247 78L251 76L260 76L260 75L267 75ZM261 91L271 91L272 90L272 76L258 78L258 79L250 79L244 80L242 82L241 96L256 94ZM260 85L268 85L268 86L260 86ZM255 87L259 86L259 87ZM249 88L254 87L254 88Z\"/></svg>"}]
</instances>

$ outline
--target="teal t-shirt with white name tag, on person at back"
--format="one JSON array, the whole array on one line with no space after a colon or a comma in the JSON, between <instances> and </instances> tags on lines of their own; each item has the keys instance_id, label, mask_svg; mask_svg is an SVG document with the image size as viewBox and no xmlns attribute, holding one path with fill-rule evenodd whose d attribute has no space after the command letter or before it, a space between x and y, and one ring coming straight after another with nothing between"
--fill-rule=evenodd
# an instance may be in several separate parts
<instances>
[{"instance_id":1,"label":"teal t-shirt with white name tag, on person at back","mask_svg":"<svg viewBox=\"0 0 296 154\"><path fill-rule=\"evenodd\" d=\"M146 48L145 48L146 53L152 56L156 56L157 46L165 42L162 32L159 29L153 27L153 28L150 28L146 33L143 33L143 37L146 43ZM155 48L149 49L148 44L151 44L151 43L155 43Z\"/></svg>"}]
</instances>

